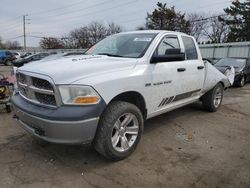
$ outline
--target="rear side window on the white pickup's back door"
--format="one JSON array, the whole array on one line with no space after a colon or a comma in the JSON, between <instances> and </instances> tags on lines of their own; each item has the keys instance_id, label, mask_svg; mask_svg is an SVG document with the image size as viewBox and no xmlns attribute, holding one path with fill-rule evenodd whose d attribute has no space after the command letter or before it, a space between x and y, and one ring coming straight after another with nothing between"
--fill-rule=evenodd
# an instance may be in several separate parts
<instances>
[{"instance_id":1,"label":"rear side window on the white pickup's back door","mask_svg":"<svg viewBox=\"0 0 250 188\"><path fill-rule=\"evenodd\" d=\"M185 37L185 36L182 36L182 40L184 43L187 60L198 59L198 54L194 40L190 37Z\"/></svg>"}]
</instances>

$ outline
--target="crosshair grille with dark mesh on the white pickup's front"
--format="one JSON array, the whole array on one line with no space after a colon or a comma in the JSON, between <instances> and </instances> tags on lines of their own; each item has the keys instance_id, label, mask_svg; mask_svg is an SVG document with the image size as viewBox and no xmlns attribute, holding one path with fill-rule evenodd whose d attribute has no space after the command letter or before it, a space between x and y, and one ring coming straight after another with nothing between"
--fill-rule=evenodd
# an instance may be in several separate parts
<instances>
[{"instance_id":1,"label":"crosshair grille with dark mesh on the white pickup's front","mask_svg":"<svg viewBox=\"0 0 250 188\"><path fill-rule=\"evenodd\" d=\"M17 73L17 85L22 97L31 102L45 105L58 106L54 85L46 79Z\"/></svg>"}]
</instances>

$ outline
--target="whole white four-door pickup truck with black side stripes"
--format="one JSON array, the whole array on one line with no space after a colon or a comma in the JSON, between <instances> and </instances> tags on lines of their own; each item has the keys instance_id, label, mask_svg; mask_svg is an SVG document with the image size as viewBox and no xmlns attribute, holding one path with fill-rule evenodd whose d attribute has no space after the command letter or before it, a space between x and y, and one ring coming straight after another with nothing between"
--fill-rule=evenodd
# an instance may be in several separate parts
<instances>
[{"instance_id":1,"label":"whole white four-door pickup truck with black side stripes","mask_svg":"<svg viewBox=\"0 0 250 188\"><path fill-rule=\"evenodd\" d=\"M53 143L92 143L121 160L145 120L199 100L215 112L230 83L202 60L193 37L136 31L107 37L86 55L27 64L17 85L12 103L26 131Z\"/></svg>"}]
</instances>

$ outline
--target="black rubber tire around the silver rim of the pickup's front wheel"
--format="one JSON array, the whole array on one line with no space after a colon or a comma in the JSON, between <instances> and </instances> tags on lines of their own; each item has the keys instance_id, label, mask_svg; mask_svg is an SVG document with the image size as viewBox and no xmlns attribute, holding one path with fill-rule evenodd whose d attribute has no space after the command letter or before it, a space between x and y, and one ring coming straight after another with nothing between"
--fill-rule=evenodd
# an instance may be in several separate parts
<instances>
[{"instance_id":1,"label":"black rubber tire around the silver rim of the pickup's front wheel","mask_svg":"<svg viewBox=\"0 0 250 188\"><path fill-rule=\"evenodd\" d=\"M138 120L138 134L137 137L132 140L133 144L131 145L131 147L129 147L129 149L125 151L117 151L113 147L111 139L112 135L114 134L113 131L115 130L115 123L119 118L122 117L123 114L132 114L133 117L136 117L136 119ZM123 101L111 102L100 118L93 145L98 153L109 160L118 161L125 159L131 153L133 153L136 146L138 145L143 133L143 125L143 116L137 106ZM118 140L120 140L120 138Z\"/></svg>"}]
</instances>

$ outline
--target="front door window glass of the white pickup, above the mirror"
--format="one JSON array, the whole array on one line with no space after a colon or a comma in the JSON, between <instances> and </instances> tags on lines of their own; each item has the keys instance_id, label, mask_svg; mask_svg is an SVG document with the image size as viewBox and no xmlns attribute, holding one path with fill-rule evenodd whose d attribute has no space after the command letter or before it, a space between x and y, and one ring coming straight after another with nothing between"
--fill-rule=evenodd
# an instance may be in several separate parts
<instances>
[{"instance_id":1,"label":"front door window glass of the white pickup, above the mirror","mask_svg":"<svg viewBox=\"0 0 250 188\"><path fill-rule=\"evenodd\" d=\"M157 55L166 55L166 50L180 48L179 40L177 37L166 36L163 38L158 48L156 49Z\"/></svg>"}]
</instances>

